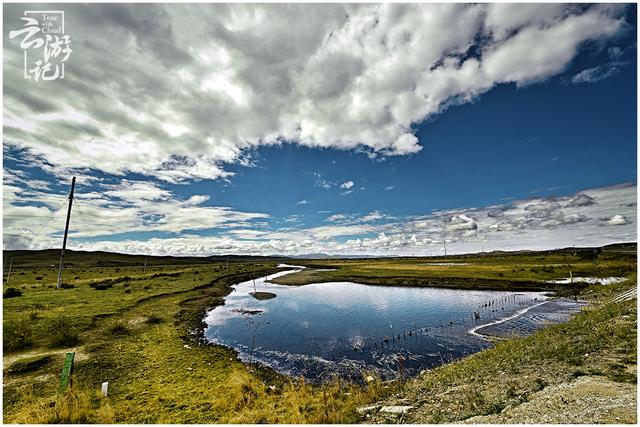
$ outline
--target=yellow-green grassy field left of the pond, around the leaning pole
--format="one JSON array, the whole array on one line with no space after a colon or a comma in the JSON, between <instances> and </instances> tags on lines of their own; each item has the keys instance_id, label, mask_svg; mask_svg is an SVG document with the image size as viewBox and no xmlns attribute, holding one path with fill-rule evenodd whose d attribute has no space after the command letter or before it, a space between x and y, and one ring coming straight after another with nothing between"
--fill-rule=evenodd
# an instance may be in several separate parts
<instances>
[{"instance_id":1,"label":"yellow-green grassy field left of the pond, around the leaning pole","mask_svg":"<svg viewBox=\"0 0 640 427\"><path fill-rule=\"evenodd\" d=\"M14 264L4 291L22 295L4 299L5 422L354 421L356 406L389 390L339 381L312 387L195 339L206 308L222 304L254 269L278 271L275 263L123 264L67 268L68 288L58 290L51 263ZM67 351L76 352L74 385L61 394ZM104 381L107 398L99 395Z\"/></svg>"}]
</instances>

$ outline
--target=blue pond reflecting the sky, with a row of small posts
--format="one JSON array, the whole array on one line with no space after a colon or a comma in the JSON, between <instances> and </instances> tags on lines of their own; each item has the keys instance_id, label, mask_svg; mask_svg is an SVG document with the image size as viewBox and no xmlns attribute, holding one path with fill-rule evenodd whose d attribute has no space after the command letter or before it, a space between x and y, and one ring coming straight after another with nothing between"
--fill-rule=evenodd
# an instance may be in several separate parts
<instances>
[{"instance_id":1,"label":"blue pond reflecting the sky, with a row of small posts","mask_svg":"<svg viewBox=\"0 0 640 427\"><path fill-rule=\"evenodd\" d=\"M269 276L274 278L298 271ZM207 313L206 338L246 362L318 382L414 375L491 346L485 335L523 335L566 321L581 302L541 292L368 286L350 282L282 286L267 278L234 286ZM263 292L275 294L256 298ZM399 361L401 359L401 361Z\"/></svg>"}]
</instances>

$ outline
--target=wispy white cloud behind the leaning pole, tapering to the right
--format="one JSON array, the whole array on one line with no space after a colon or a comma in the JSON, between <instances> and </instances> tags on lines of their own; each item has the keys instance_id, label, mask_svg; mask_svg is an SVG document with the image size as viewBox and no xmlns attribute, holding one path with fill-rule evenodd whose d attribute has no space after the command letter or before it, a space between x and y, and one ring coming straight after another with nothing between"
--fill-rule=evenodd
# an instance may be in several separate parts
<instances>
[{"instance_id":1,"label":"wispy white cloud behind the leaning pole, tapering to the right","mask_svg":"<svg viewBox=\"0 0 640 427\"><path fill-rule=\"evenodd\" d=\"M86 183L78 181L78 186ZM67 195L50 191L4 187L4 243L13 249L58 247L55 236L64 229ZM182 199L173 192L142 181L99 184L74 197L69 236L96 239L124 233L165 232L247 227L269 215L211 206L207 195ZM36 205L34 205L34 203Z\"/></svg>"}]
</instances>

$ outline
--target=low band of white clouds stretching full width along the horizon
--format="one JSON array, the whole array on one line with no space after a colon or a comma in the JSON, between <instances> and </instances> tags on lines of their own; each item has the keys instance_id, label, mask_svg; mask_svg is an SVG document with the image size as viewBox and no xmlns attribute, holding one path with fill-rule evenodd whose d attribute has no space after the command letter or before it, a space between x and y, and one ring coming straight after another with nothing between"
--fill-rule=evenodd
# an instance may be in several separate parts
<instances>
[{"instance_id":1,"label":"low band of white clouds stretching full width along the horizon","mask_svg":"<svg viewBox=\"0 0 640 427\"><path fill-rule=\"evenodd\" d=\"M79 194L69 247L157 255L440 255L444 240L448 253L597 246L636 240L631 220L636 216L636 190L634 185L619 185L553 199L403 217L379 211L340 213L327 217L325 225L312 227L299 223L298 216L288 216L282 218L285 226L278 228L266 221L273 218L259 212L211 206L205 197L183 199L161 187L127 181ZM8 183L4 194L5 248L20 249L29 241L32 249L59 246L64 194ZM580 194L593 203L571 206ZM37 200L38 205L26 205L26 200ZM90 225L90 232L81 219ZM149 230L168 236L125 234Z\"/></svg>"}]
</instances>

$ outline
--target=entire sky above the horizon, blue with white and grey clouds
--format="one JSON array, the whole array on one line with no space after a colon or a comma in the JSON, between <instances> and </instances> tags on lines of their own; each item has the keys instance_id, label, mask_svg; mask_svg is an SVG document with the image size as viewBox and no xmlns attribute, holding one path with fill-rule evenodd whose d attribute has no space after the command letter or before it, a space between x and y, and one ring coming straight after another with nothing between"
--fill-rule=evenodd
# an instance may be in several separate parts
<instances>
[{"instance_id":1,"label":"entire sky above the horizon, blue with white and grey clouds","mask_svg":"<svg viewBox=\"0 0 640 427\"><path fill-rule=\"evenodd\" d=\"M64 10L64 79L24 78ZM3 244L442 255L636 241L634 4L4 4Z\"/></svg>"}]
</instances>

